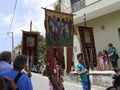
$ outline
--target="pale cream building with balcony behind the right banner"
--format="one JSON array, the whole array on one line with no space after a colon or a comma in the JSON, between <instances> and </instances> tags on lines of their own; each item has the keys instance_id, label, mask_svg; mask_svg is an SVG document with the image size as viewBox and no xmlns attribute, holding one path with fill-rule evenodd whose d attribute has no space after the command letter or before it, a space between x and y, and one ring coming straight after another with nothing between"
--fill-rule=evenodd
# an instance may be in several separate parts
<instances>
[{"instance_id":1,"label":"pale cream building with balcony behind the right banner","mask_svg":"<svg viewBox=\"0 0 120 90\"><path fill-rule=\"evenodd\" d=\"M120 55L120 0L61 0L62 11L73 13L74 27L77 35L74 35L74 60L81 52L81 42L78 26L84 26L84 14L86 26L93 28L93 37L96 54L107 50L112 43ZM119 63L120 66L120 63Z\"/></svg>"}]
</instances>

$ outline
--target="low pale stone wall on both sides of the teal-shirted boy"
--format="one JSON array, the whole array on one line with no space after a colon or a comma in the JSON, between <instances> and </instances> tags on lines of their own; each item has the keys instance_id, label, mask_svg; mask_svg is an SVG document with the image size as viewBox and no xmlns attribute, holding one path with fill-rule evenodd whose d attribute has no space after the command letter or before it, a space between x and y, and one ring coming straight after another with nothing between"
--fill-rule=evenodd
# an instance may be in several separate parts
<instances>
[{"instance_id":1,"label":"low pale stone wall on both sides of the teal-shirted boy","mask_svg":"<svg viewBox=\"0 0 120 90\"><path fill-rule=\"evenodd\" d=\"M101 87L109 87L112 86L112 76L113 71L90 71L90 81L92 85L101 86ZM77 72L71 72L64 76L64 79L70 82L80 83L79 76Z\"/></svg>"}]
</instances>

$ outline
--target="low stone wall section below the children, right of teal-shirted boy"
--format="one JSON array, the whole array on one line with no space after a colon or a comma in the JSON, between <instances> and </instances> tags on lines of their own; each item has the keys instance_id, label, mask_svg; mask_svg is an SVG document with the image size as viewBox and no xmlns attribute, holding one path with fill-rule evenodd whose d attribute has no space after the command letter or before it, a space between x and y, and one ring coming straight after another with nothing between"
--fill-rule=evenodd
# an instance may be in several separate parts
<instances>
[{"instance_id":1,"label":"low stone wall section below the children, right of teal-shirted boy","mask_svg":"<svg viewBox=\"0 0 120 90\"><path fill-rule=\"evenodd\" d=\"M91 84L103 87L112 86L113 71L91 71L89 73Z\"/></svg>"}]
</instances>

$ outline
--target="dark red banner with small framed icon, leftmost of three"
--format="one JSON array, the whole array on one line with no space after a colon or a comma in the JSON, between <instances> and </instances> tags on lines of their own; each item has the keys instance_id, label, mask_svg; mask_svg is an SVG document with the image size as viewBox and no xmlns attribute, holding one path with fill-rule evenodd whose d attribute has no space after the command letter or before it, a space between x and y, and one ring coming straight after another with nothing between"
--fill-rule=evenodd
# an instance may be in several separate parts
<instances>
[{"instance_id":1,"label":"dark red banner with small framed icon, leftmost of three","mask_svg":"<svg viewBox=\"0 0 120 90\"><path fill-rule=\"evenodd\" d=\"M29 66L38 63L38 32L23 31L22 54L29 57Z\"/></svg>"}]
</instances>

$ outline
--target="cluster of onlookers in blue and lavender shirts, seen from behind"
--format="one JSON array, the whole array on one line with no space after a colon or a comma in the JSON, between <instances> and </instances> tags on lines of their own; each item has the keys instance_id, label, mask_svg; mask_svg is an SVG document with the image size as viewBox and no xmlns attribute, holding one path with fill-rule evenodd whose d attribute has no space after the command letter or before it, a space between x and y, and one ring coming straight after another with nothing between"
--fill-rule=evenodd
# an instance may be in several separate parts
<instances>
[{"instance_id":1,"label":"cluster of onlookers in blue and lavender shirts, seen from behind","mask_svg":"<svg viewBox=\"0 0 120 90\"><path fill-rule=\"evenodd\" d=\"M27 75L26 67L25 55L18 55L12 65L11 52L2 52L0 54L0 90L33 90L31 76Z\"/></svg>"}]
</instances>

